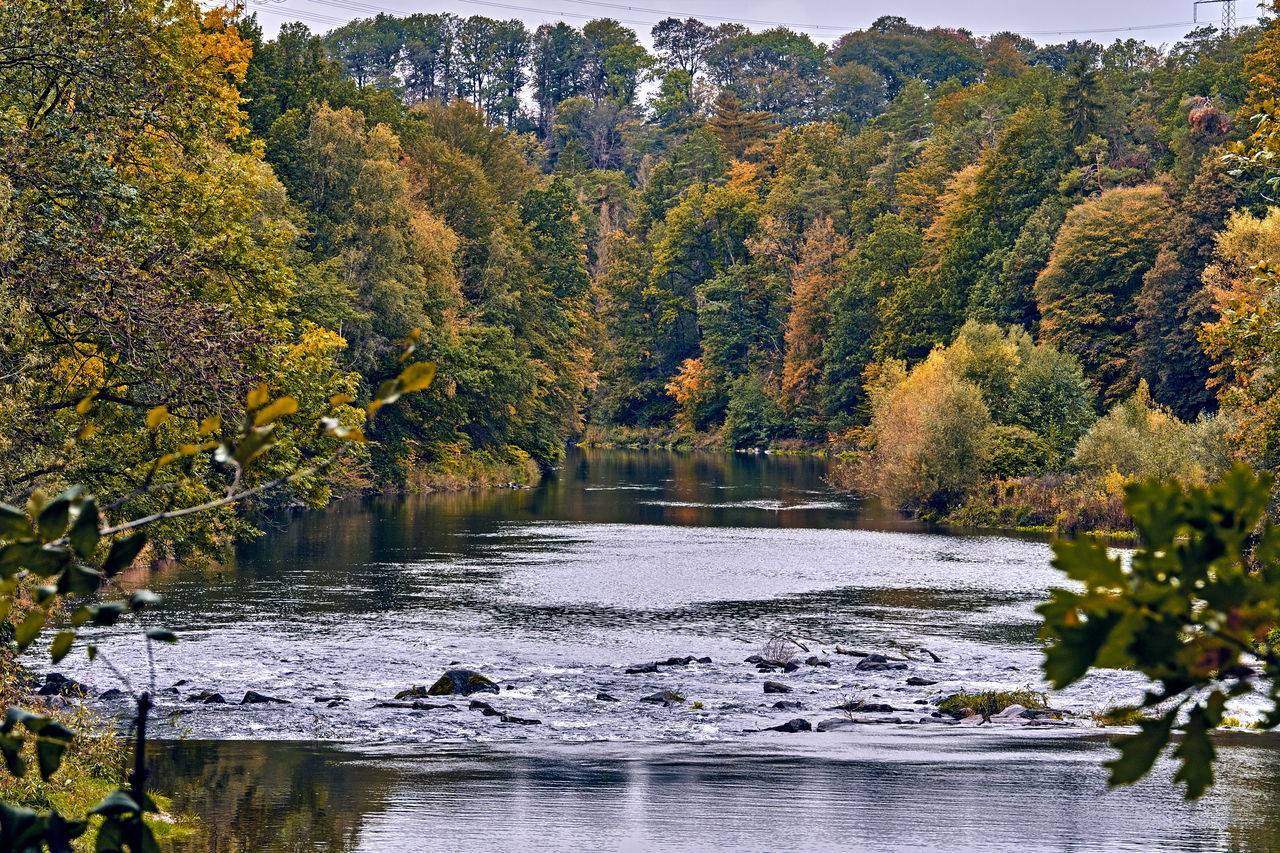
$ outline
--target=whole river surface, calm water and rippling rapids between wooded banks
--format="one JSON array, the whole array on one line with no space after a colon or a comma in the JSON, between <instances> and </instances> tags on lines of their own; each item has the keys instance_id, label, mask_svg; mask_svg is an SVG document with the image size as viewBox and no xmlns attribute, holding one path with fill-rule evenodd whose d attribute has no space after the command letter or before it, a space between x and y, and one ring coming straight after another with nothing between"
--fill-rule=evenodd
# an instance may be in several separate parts
<instances>
[{"instance_id":1,"label":"whole river surface, calm water and rippling rapids between wooded banks","mask_svg":"<svg viewBox=\"0 0 1280 853\"><path fill-rule=\"evenodd\" d=\"M104 656L67 671L108 689L110 662L160 690L156 780L202 817L189 850L1280 844L1270 738L1225 736L1222 781L1187 804L1167 767L1107 792L1114 730L1084 720L933 717L961 688L1043 689L1050 548L870 514L824 474L809 457L575 451L534 489L335 506L234 566L146 578L165 598L152 619L182 638L154 675L136 625L97 633ZM776 635L829 666L744 662ZM906 669L858 670L837 647ZM710 662L626 672L685 656ZM379 707L451 666L539 722L465 699ZM1051 703L1084 715L1140 689L1103 672ZM227 702L191 701L202 690ZM247 690L287 704L239 704ZM851 699L892 711L833 710ZM795 717L856 725L767 730Z\"/></svg>"}]
</instances>

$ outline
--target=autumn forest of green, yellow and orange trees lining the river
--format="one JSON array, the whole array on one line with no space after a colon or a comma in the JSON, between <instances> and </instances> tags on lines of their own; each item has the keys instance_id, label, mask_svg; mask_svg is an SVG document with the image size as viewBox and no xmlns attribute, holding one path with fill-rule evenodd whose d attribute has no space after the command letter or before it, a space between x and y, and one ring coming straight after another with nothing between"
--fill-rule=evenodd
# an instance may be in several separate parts
<instances>
[{"instance_id":1,"label":"autumn forest of green, yellow and orange trees lining the river","mask_svg":"<svg viewBox=\"0 0 1280 853\"><path fill-rule=\"evenodd\" d=\"M6 500L214 494L157 442L260 384L300 407L256 476L291 470L411 334L436 380L348 465L152 542L527 483L567 442L838 453L888 506L1066 530L1128 526L1139 476L1277 465L1268 19L1156 46L669 18L650 50L611 19L269 37L33 0L0 32Z\"/></svg>"}]
</instances>

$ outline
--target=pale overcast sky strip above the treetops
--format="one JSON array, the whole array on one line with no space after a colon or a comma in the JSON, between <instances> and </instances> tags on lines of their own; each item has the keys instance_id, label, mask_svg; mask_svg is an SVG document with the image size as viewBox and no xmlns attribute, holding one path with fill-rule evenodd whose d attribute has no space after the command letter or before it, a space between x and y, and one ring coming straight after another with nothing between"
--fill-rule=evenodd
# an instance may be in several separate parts
<instances>
[{"instance_id":1,"label":"pale overcast sky strip above the treetops","mask_svg":"<svg viewBox=\"0 0 1280 853\"><path fill-rule=\"evenodd\" d=\"M530 29L564 20L582 26L591 18L614 18L632 27L649 44L649 29L662 18L700 18L716 24L733 20L751 29L787 26L831 44L850 29L864 29L881 15L901 15L923 27L961 27L978 35L1012 29L1038 42L1093 38L1140 38L1152 44L1178 41L1192 29L1192 0L895 0L841 3L838 0L244 0L268 33L287 20L302 20L326 32L353 18L379 12L406 15L452 12L458 15L520 18ZM1240 23L1257 19L1258 6L1236 3ZM1201 5L1201 22L1217 23L1221 4Z\"/></svg>"}]
</instances>

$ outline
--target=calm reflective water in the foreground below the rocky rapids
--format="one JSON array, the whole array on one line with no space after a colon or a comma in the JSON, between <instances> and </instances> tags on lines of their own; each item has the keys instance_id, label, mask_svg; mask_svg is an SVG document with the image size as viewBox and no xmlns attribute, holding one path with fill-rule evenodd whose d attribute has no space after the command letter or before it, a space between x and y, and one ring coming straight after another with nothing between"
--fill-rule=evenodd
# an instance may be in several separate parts
<instances>
[{"instance_id":1,"label":"calm reflective water in the foreground below the rocky rapids","mask_svg":"<svg viewBox=\"0 0 1280 853\"><path fill-rule=\"evenodd\" d=\"M157 780L205 816L192 853L1260 850L1280 844L1276 745L1225 743L1194 804L1167 766L1106 790L1100 738L883 730L733 749L174 743Z\"/></svg>"}]
</instances>

